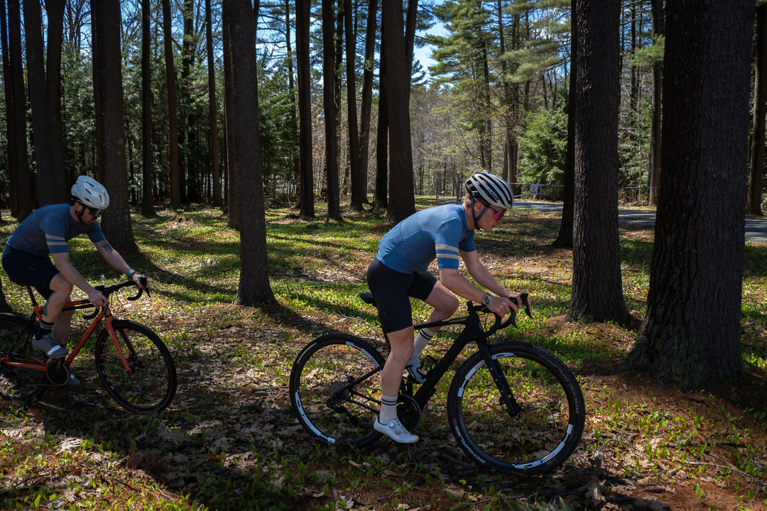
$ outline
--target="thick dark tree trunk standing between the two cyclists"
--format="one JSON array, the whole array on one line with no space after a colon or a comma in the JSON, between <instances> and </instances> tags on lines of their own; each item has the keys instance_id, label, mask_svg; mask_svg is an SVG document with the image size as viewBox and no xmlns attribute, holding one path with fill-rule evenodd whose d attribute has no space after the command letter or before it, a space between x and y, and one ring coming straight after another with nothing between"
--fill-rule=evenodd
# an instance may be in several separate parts
<instances>
[{"instance_id":1,"label":"thick dark tree trunk standing between the two cyclists","mask_svg":"<svg viewBox=\"0 0 767 511\"><path fill-rule=\"evenodd\" d=\"M248 221L240 226L240 281L235 303L258 305L273 302L266 252L262 145L258 128L258 74L255 59L258 0L224 0L223 18L229 28L229 64L234 117L231 133L239 172L240 213Z\"/></svg>"}]
</instances>

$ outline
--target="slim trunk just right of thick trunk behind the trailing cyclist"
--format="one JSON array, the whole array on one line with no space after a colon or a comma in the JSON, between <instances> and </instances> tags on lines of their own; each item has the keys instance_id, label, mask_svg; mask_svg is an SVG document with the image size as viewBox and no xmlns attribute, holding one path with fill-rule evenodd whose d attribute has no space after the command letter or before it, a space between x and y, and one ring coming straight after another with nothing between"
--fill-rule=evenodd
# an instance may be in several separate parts
<instances>
[{"instance_id":1,"label":"slim trunk just right of thick trunk behind the trailing cyclist","mask_svg":"<svg viewBox=\"0 0 767 511\"><path fill-rule=\"evenodd\" d=\"M152 26L150 0L141 0L141 214L154 215L152 154Z\"/></svg>"}]
</instances>

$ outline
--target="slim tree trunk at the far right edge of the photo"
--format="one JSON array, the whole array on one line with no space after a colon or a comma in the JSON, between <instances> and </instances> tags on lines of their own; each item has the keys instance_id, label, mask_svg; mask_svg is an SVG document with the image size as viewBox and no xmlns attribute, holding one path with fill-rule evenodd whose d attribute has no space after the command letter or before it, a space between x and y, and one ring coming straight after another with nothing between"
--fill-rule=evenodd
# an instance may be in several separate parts
<instances>
[{"instance_id":1,"label":"slim tree trunk at the far right edge of the photo","mask_svg":"<svg viewBox=\"0 0 767 511\"><path fill-rule=\"evenodd\" d=\"M767 3L756 7L754 122L749 159L749 192L746 211L762 215L765 175L765 116L767 116Z\"/></svg>"}]
</instances>

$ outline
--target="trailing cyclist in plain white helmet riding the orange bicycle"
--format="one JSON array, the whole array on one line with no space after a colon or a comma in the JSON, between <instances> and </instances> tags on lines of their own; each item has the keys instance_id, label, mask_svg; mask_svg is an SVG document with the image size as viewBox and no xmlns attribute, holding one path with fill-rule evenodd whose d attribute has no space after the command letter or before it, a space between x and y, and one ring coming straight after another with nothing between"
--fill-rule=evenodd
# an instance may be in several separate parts
<instances>
[{"instance_id":1,"label":"trailing cyclist in plain white helmet riding the orange bicycle","mask_svg":"<svg viewBox=\"0 0 767 511\"><path fill-rule=\"evenodd\" d=\"M81 276L69 261L67 241L87 234L97 251L115 270L126 274L143 288L140 275L123 260L101 232L97 222L109 205L106 188L94 179L81 175L72 185L69 204L48 205L24 219L8 238L2 251L2 267L16 283L28 284L45 297L45 308L32 346L52 359L67 355L67 339L73 311L62 311L74 286L83 290L96 306L107 302L106 296ZM51 255L53 262L51 262ZM80 382L70 374L70 387Z\"/></svg>"}]
</instances>

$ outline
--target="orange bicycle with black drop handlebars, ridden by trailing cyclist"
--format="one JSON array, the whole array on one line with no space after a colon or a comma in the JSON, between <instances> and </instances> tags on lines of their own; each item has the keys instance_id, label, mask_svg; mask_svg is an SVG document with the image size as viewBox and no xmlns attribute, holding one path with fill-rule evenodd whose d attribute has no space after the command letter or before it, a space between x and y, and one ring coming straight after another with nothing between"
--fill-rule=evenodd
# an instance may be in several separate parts
<instances>
[{"instance_id":1,"label":"orange bicycle with black drop handlebars, ridden by trailing cyclist","mask_svg":"<svg viewBox=\"0 0 767 511\"><path fill-rule=\"evenodd\" d=\"M110 287L97 287L104 296L123 287L134 286L132 280ZM146 287L146 277L142 285ZM136 413L162 411L176 395L176 365L170 351L152 329L134 321L117 319L109 303L94 306L90 300L67 302L64 310L95 307L92 319L80 341L69 355L61 359L41 359L44 355L32 348L41 319L43 306L35 300L35 293L27 286L32 301L32 313L24 317L15 313L0 313L0 396L29 401L39 398L49 387L67 384L69 368L77 353L90 339L97 325L104 319L95 346L96 369L101 384L123 408ZM128 300L138 300L143 290ZM147 294L149 294L147 292Z\"/></svg>"}]
</instances>

